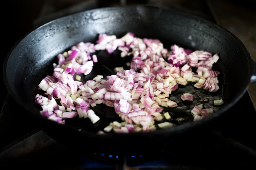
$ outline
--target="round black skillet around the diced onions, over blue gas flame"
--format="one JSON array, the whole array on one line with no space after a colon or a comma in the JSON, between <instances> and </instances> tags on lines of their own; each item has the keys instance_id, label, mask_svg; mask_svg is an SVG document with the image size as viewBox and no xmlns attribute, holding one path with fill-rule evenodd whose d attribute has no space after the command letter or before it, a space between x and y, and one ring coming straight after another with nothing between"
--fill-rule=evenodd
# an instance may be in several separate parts
<instances>
[{"instance_id":1,"label":"round black skillet around the diced onions, over blue gas flame","mask_svg":"<svg viewBox=\"0 0 256 170\"><path fill-rule=\"evenodd\" d=\"M196 122L168 129L132 134L96 135L87 120L70 121L60 125L43 118L34 102L37 85L52 75L56 55L78 42L95 42L99 33L121 37L133 32L136 37L160 39L166 48L172 44L192 50L218 53L220 59L214 70L221 74L220 97L224 99L218 111ZM102 54L104 57L104 54ZM115 54L103 58L93 74L105 73L101 66L114 68L127 59L117 59ZM113 58L115 62L112 63ZM9 94L26 109L50 136L60 142L87 152L129 155L164 152L176 144L188 143L202 129L212 125L245 94L250 83L256 82L256 64L244 44L232 33L209 21L176 10L139 5L111 7L78 12L53 20L28 33L17 42L4 63L4 80ZM112 120L104 117L111 112L99 108L100 124ZM185 142L184 142L185 141Z\"/></svg>"}]
</instances>

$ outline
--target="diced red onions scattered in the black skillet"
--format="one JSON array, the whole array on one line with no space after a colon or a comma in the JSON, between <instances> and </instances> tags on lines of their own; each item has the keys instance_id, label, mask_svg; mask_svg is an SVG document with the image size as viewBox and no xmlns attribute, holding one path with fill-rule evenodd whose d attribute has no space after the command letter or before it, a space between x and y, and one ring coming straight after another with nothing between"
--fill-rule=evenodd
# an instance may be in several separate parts
<instances>
[{"instance_id":1,"label":"diced red onions scattered in the black skillet","mask_svg":"<svg viewBox=\"0 0 256 170\"><path fill-rule=\"evenodd\" d=\"M106 78L98 75L82 83L81 76L88 75L98 61L95 53L98 50L106 50L109 54L120 50L120 57L133 55L127 63L130 69L116 67L116 75ZM95 44L80 42L59 54L57 59L58 63L53 64L53 75L47 75L38 85L38 89L45 92L35 96L35 102L42 107L40 113L60 124L75 116L89 118L95 124L100 118L93 107L97 104L113 107L122 122L114 121L98 134L152 131L175 126L167 121L171 116L164 108L178 106L169 96L179 85L193 83L197 89L219 90L217 76L220 73L212 70L219 59L218 54L192 51L176 44L168 50L158 39L141 39L131 32L121 38L99 34ZM196 71L193 72L192 68ZM194 98L190 93L183 93L181 100L193 101ZM223 100L220 101L216 101L216 105L223 104ZM194 120L211 113L213 109L206 109L203 104L191 110Z\"/></svg>"}]
</instances>

